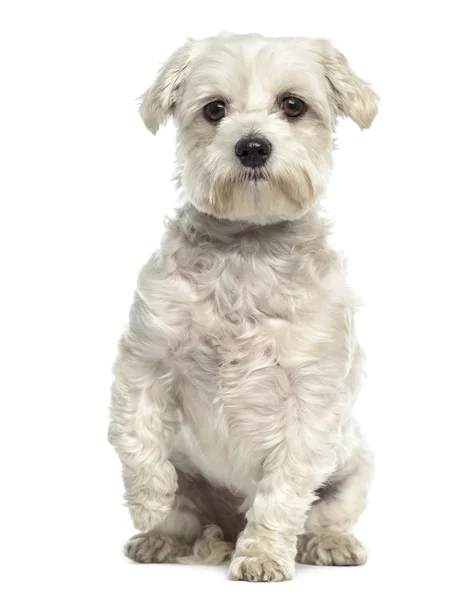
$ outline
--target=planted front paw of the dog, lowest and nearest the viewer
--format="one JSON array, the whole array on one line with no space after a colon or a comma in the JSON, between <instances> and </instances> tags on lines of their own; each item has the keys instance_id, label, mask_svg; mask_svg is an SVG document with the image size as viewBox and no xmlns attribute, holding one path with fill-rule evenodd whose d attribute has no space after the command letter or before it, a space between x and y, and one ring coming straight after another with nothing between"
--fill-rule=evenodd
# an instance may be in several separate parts
<instances>
[{"instance_id":1,"label":"planted front paw of the dog, lowest and nearest the viewer","mask_svg":"<svg viewBox=\"0 0 464 600\"><path fill-rule=\"evenodd\" d=\"M295 563L278 557L236 555L229 569L229 579L235 581L286 581L292 579Z\"/></svg>"}]
</instances>

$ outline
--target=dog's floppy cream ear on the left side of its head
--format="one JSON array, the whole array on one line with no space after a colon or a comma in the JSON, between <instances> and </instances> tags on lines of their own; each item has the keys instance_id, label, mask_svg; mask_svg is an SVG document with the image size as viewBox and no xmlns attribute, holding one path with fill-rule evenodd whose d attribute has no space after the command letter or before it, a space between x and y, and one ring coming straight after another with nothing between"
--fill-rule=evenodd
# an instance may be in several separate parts
<instances>
[{"instance_id":1,"label":"dog's floppy cream ear on the left side of its head","mask_svg":"<svg viewBox=\"0 0 464 600\"><path fill-rule=\"evenodd\" d=\"M155 134L172 116L179 103L191 63L193 40L176 50L161 67L155 82L140 96L140 116L149 131Z\"/></svg>"}]
</instances>

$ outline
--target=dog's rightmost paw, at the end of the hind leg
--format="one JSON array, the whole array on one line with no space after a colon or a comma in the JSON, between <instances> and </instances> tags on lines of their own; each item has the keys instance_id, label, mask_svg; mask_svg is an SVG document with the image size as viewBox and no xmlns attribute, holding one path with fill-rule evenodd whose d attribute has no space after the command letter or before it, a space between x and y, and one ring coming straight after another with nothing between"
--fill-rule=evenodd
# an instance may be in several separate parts
<instances>
[{"instance_id":1,"label":"dog's rightmost paw, at the end of the hind leg","mask_svg":"<svg viewBox=\"0 0 464 600\"><path fill-rule=\"evenodd\" d=\"M350 533L303 535L298 541L297 561L306 565L352 567L363 565L366 560L364 547Z\"/></svg>"}]
</instances>

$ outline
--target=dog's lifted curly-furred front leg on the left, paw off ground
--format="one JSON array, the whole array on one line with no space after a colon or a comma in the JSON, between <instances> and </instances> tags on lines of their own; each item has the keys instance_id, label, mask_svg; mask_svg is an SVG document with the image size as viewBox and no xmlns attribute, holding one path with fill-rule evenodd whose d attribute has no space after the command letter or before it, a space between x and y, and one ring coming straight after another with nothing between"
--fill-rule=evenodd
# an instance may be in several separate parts
<instances>
[{"instance_id":1,"label":"dog's lifted curly-furred front leg on the left, paw off ground","mask_svg":"<svg viewBox=\"0 0 464 600\"><path fill-rule=\"evenodd\" d=\"M176 407L156 363L135 356L123 344L114 372L109 440L123 465L132 521L147 532L164 521L177 489L169 461Z\"/></svg>"}]
</instances>

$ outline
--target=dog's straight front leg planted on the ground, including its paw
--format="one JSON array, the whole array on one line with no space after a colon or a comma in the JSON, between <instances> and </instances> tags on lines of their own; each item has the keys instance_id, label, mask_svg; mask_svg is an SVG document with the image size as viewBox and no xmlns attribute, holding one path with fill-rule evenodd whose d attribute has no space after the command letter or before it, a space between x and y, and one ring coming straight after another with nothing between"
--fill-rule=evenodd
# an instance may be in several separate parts
<instances>
[{"instance_id":1,"label":"dog's straight front leg planted on the ground, including its paw","mask_svg":"<svg viewBox=\"0 0 464 600\"><path fill-rule=\"evenodd\" d=\"M287 415L288 416L288 415ZM231 579L283 581L295 570L296 543L316 490L333 471L338 414L328 409L317 430L294 411L281 440L266 456L230 566Z\"/></svg>"}]
</instances>

